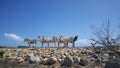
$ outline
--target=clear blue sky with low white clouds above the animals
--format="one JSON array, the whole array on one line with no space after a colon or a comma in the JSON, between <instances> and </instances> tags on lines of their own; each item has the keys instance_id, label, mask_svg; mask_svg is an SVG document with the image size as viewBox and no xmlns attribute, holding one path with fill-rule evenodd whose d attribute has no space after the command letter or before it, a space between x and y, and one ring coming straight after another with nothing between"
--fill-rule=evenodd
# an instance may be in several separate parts
<instances>
[{"instance_id":1,"label":"clear blue sky with low white clouds above the animals","mask_svg":"<svg viewBox=\"0 0 120 68\"><path fill-rule=\"evenodd\" d=\"M0 0L0 45L27 45L21 39L59 35L78 35L77 45L88 45L90 26L108 17L116 30L120 0Z\"/></svg>"}]
</instances>

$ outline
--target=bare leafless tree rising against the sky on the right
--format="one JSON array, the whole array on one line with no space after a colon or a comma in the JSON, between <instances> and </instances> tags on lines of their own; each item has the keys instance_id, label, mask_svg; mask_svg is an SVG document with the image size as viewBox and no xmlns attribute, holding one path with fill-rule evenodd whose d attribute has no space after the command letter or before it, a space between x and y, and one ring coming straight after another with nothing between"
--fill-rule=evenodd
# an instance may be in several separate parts
<instances>
[{"instance_id":1,"label":"bare leafless tree rising against the sky on the right","mask_svg":"<svg viewBox=\"0 0 120 68\"><path fill-rule=\"evenodd\" d=\"M115 44L115 38L113 38L113 31L111 29L110 21L104 23L100 28L92 27L93 35L96 39L92 39L92 41L98 44L101 44L105 47L110 47Z\"/></svg>"}]
</instances>

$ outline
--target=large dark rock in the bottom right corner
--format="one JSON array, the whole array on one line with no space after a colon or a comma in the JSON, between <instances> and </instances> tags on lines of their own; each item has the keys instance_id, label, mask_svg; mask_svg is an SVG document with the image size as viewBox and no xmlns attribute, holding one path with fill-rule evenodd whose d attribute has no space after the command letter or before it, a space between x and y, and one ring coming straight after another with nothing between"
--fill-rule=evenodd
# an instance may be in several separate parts
<instances>
[{"instance_id":1,"label":"large dark rock in the bottom right corner","mask_svg":"<svg viewBox=\"0 0 120 68\"><path fill-rule=\"evenodd\" d=\"M120 68L120 60L114 59L105 63L105 68Z\"/></svg>"}]
</instances>

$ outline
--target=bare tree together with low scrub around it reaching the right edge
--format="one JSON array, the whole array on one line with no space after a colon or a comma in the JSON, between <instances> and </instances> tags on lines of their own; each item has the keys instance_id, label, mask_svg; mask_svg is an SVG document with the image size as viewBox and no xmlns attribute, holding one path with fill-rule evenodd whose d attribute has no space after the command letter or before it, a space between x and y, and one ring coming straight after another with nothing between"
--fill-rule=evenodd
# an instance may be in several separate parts
<instances>
[{"instance_id":1,"label":"bare tree together with low scrub around it reaching the right edge","mask_svg":"<svg viewBox=\"0 0 120 68\"><path fill-rule=\"evenodd\" d=\"M92 27L93 35L95 38L90 39L91 45L94 47L96 44L112 48L113 46L119 45L120 36L114 36L114 31L111 28L111 24L108 20L107 23L101 27ZM113 49L113 48L112 48Z\"/></svg>"}]
</instances>

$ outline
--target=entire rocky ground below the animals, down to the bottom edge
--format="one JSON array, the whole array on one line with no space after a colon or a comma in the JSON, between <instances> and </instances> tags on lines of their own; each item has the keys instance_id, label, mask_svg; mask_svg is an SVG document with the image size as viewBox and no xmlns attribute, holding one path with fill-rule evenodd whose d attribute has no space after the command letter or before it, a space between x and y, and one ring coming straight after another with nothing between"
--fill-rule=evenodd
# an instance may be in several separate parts
<instances>
[{"instance_id":1,"label":"entire rocky ground below the animals, down to the bottom edge","mask_svg":"<svg viewBox=\"0 0 120 68\"><path fill-rule=\"evenodd\" d=\"M0 68L120 68L120 48L1 48L0 52L4 52Z\"/></svg>"}]
</instances>

